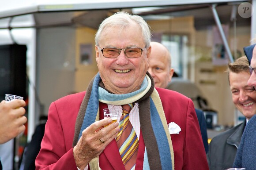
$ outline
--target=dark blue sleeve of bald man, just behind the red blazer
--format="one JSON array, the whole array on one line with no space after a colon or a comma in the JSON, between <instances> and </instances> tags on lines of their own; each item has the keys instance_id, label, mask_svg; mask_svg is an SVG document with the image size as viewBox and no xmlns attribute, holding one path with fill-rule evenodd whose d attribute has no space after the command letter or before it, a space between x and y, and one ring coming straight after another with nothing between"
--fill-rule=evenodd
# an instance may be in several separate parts
<instances>
[{"instance_id":1,"label":"dark blue sleeve of bald man, just behind the red blazer","mask_svg":"<svg viewBox=\"0 0 256 170\"><path fill-rule=\"evenodd\" d=\"M208 136L207 136L207 127L206 127L206 120L202 110L196 109L196 116L198 119L202 139L203 139L203 146L205 153L208 152Z\"/></svg>"}]
</instances>

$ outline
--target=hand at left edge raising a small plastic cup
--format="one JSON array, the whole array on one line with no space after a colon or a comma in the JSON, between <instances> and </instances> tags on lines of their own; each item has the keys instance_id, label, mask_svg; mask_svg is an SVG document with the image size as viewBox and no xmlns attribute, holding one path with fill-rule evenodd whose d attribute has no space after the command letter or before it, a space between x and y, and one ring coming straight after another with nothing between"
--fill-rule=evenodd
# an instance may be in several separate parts
<instances>
[{"instance_id":1,"label":"hand at left edge raising a small plastic cup","mask_svg":"<svg viewBox=\"0 0 256 170\"><path fill-rule=\"evenodd\" d=\"M0 144L10 141L12 138L22 133L27 121L24 116L26 110L24 100L14 100L11 102L1 101L0 103Z\"/></svg>"}]
</instances>

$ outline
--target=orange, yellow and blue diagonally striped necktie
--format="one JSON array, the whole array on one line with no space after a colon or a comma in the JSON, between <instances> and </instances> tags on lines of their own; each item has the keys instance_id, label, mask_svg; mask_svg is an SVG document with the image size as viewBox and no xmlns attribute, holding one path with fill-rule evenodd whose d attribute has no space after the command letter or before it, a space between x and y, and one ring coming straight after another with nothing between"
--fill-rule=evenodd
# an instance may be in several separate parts
<instances>
[{"instance_id":1,"label":"orange, yellow and blue diagonally striped necktie","mask_svg":"<svg viewBox=\"0 0 256 170\"><path fill-rule=\"evenodd\" d=\"M129 113L132 110L134 103L122 105L123 112L120 117L120 131L117 134L117 147L126 170L131 170L136 164L139 140L129 121Z\"/></svg>"}]
</instances>

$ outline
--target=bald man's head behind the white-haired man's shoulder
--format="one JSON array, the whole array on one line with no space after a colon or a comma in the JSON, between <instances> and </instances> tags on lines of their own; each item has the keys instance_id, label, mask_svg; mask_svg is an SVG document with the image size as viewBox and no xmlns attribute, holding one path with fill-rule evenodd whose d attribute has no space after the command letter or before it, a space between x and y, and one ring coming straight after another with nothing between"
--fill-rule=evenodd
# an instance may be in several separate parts
<instances>
[{"instance_id":1,"label":"bald man's head behind the white-haired man's shoulder","mask_svg":"<svg viewBox=\"0 0 256 170\"><path fill-rule=\"evenodd\" d=\"M155 87L166 88L173 76L168 49L158 42L151 42L148 72L154 78Z\"/></svg>"}]
</instances>

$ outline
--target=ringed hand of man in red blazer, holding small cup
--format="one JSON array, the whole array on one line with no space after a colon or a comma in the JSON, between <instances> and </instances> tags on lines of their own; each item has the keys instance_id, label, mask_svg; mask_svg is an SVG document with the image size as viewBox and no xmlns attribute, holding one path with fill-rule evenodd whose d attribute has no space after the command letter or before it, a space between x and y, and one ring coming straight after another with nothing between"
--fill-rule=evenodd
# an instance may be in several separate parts
<instances>
[{"instance_id":1,"label":"ringed hand of man in red blazer, holding small cup","mask_svg":"<svg viewBox=\"0 0 256 170\"><path fill-rule=\"evenodd\" d=\"M99 156L105 147L117 137L120 130L119 123L111 122L112 119L102 119L83 130L73 150L76 166L80 170L83 170L91 159ZM104 127L109 123L111 123L109 126Z\"/></svg>"}]
</instances>

